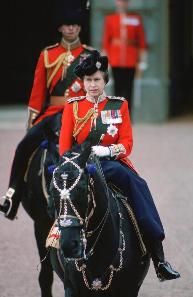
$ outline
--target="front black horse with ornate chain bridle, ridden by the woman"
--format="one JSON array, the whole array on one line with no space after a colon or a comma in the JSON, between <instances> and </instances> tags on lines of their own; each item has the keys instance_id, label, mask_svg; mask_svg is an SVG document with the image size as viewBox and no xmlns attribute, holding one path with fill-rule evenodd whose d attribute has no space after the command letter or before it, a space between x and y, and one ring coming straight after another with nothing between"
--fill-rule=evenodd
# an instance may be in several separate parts
<instances>
[{"instance_id":1,"label":"front black horse with ornate chain bridle, ridden by the woman","mask_svg":"<svg viewBox=\"0 0 193 297\"><path fill-rule=\"evenodd\" d=\"M65 297L136 297L150 256L142 257L134 225L120 199L125 197L107 188L99 163L97 167L89 158L91 140L81 154L70 150L60 157L51 140L48 151L56 166L50 193L60 230L60 249L51 247L50 255Z\"/></svg>"}]
</instances>

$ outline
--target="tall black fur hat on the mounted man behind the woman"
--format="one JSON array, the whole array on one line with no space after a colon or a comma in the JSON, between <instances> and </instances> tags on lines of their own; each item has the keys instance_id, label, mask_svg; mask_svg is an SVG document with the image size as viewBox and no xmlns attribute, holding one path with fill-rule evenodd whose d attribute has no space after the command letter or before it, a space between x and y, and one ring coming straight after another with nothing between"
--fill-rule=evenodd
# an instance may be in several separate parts
<instances>
[{"instance_id":1,"label":"tall black fur hat on the mounted man behind the woman","mask_svg":"<svg viewBox=\"0 0 193 297\"><path fill-rule=\"evenodd\" d=\"M86 3L83 0L54 0L53 25L59 28L62 25L77 24L83 26L87 20Z\"/></svg>"}]
</instances>

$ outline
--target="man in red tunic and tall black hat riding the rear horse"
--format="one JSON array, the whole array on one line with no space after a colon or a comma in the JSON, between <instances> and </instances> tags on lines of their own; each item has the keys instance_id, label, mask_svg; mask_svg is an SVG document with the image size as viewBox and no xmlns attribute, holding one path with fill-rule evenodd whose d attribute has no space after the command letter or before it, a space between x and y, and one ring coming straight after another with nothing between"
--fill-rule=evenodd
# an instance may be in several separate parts
<instances>
[{"instance_id":1,"label":"man in red tunic and tall black hat riding the rear horse","mask_svg":"<svg viewBox=\"0 0 193 297\"><path fill-rule=\"evenodd\" d=\"M62 33L60 43L42 50L37 63L31 91L26 124L26 136L18 144L12 164L9 188L0 213L13 220L22 198L23 179L31 154L44 140L43 127L49 124L53 132L61 129L61 116L67 99L85 95L83 83L74 73L74 67L90 56L92 47L79 40L81 25L85 22L85 9L80 1L65 4L56 2L55 26ZM45 104L49 91L50 103Z\"/></svg>"}]
</instances>

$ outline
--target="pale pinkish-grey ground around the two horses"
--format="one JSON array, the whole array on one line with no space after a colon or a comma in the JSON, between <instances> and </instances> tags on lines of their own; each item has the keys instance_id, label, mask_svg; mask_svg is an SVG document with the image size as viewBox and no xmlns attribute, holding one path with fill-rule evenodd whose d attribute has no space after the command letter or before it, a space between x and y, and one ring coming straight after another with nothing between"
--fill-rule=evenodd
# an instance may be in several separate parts
<instances>
[{"instance_id":1,"label":"pale pinkish-grey ground around the two horses","mask_svg":"<svg viewBox=\"0 0 193 297\"><path fill-rule=\"evenodd\" d=\"M26 107L0 109L0 194L7 190L14 150L24 135ZM193 117L133 126L131 160L147 181L164 225L166 259L181 278L159 283L153 264L138 297L193 296ZM39 297L33 221L20 206L18 220L0 216L0 296ZM64 296L55 275L53 297ZM123 296L124 297L124 296Z\"/></svg>"}]
</instances>

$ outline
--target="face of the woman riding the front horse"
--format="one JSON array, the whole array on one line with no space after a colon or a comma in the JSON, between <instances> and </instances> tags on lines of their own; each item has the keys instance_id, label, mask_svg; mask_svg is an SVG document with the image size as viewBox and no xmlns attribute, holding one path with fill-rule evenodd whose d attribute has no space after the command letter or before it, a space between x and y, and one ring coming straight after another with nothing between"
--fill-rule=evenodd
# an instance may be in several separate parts
<instances>
[{"instance_id":1,"label":"face of the woman riding the front horse","mask_svg":"<svg viewBox=\"0 0 193 297\"><path fill-rule=\"evenodd\" d=\"M92 75L85 75L83 79L86 92L97 99L103 92L105 81L100 70Z\"/></svg>"}]
</instances>

